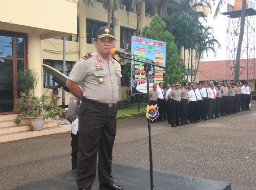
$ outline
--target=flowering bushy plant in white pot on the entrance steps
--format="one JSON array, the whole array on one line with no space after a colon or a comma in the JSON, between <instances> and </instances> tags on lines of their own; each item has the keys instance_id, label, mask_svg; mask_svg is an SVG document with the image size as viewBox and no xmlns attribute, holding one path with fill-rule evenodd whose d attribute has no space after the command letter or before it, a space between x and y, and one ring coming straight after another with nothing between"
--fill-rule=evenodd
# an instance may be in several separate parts
<instances>
[{"instance_id":1,"label":"flowering bushy plant in white pot on the entrance steps","mask_svg":"<svg viewBox=\"0 0 256 190\"><path fill-rule=\"evenodd\" d=\"M20 93L16 104L16 111L18 114L14 119L16 124L20 123L21 119L28 117L32 130L40 131L43 129L45 118L53 118L62 115L62 109L53 105L53 98L49 100L48 96L34 97L32 94L27 96L25 93ZM57 95L54 99L57 98ZM38 126L37 126L38 123Z\"/></svg>"}]
</instances>

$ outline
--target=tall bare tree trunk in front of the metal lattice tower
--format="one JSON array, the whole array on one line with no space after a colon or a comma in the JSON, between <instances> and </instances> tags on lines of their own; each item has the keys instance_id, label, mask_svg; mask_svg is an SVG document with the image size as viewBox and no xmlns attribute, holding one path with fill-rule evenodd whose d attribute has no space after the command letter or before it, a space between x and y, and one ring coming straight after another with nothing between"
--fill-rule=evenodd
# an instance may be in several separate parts
<instances>
[{"instance_id":1,"label":"tall bare tree trunk in front of the metal lattice tower","mask_svg":"<svg viewBox=\"0 0 256 190\"><path fill-rule=\"evenodd\" d=\"M246 0L242 1L241 19L240 19L240 34L238 39L238 48L236 52L236 64L235 64L235 83L239 82L240 75L240 57L241 57L241 47L244 37L244 25L245 25L245 13L246 13ZM248 79L247 79L248 80Z\"/></svg>"}]
</instances>

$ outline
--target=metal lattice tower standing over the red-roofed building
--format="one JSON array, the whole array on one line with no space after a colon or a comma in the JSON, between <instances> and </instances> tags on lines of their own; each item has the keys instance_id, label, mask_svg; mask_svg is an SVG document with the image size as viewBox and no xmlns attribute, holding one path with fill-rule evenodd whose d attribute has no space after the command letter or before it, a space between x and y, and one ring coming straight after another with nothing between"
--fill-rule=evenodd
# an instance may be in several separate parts
<instances>
[{"instance_id":1,"label":"metal lattice tower standing over the red-roofed building","mask_svg":"<svg viewBox=\"0 0 256 190\"><path fill-rule=\"evenodd\" d=\"M256 5L252 1L247 2L245 14L245 26L243 43L240 57L239 79L244 81L253 80L255 84L255 15ZM221 13L227 16L227 80L235 78L235 63L240 34L241 9L236 5L227 5L228 12Z\"/></svg>"}]
</instances>

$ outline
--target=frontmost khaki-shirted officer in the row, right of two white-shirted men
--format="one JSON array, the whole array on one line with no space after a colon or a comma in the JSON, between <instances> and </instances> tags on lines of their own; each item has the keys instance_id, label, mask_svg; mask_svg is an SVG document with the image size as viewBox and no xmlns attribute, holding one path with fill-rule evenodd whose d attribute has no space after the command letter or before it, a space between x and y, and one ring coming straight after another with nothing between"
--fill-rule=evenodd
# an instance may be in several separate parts
<instances>
[{"instance_id":1,"label":"frontmost khaki-shirted officer in the row, right of two white-shirted men","mask_svg":"<svg viewBox=\"0 0 256 190\"><path fill-rule=\"evenodd\" d=\"M168 98L171 102L171 124L172 127L182 126L179 124L179 102L181 101L181 90L179 89L179 83L175 84L175 88L170 91Z\"/></svg>"}]
</instances>

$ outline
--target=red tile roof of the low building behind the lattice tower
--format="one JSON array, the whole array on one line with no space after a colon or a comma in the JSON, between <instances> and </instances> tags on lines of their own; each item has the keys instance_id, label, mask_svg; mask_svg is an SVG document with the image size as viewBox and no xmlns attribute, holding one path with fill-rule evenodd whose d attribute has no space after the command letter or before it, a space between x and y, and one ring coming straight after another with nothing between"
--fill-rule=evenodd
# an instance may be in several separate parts
<instances>
[{"instance_id":1,"label":"red tile roof of the low building behind the lattice tower","mask_svg":"<svg viewBox=\"0 0 256 190\"><path fill-rule=\"evenodd\" d=\"M233 62L234 61L234 62ZM248 60L248 78L252 80L255 77L255 62L256 59ZM235 60L231 60L228 65L228 72L230 72L230 67L234 75L234 63ZM247 80L247 59L240 60L240 80ZM199 81L221 81L221 80L234 80L234 77L231 76L230 79L227 79L227 61L210 61L210 62L200 62L199 63ZM230 74L231 75L231 74Z\"/></svg>"}]
</instances>

